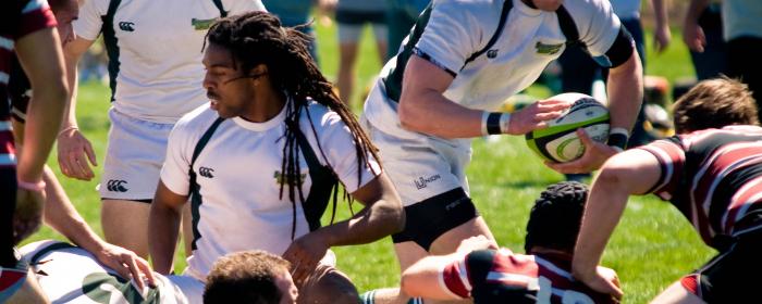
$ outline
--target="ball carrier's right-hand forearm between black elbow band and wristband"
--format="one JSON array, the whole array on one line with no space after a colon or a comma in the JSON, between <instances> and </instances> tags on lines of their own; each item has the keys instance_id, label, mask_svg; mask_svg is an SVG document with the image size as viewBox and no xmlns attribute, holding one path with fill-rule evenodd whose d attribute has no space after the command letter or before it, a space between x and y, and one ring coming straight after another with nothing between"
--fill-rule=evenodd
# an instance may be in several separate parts
<instances>
[{"instance_id":1,"label":"ball carrier's right-hand forearm between black elbow band and wristband","mask_svg":"<svg viewBox=\"0 0 762 304\"><path fill-rule=\"evenodd\" d=\"M636 51L609 73L611 127L631 130L643 100L643 71Z\"/></svg>"}]
</instances>

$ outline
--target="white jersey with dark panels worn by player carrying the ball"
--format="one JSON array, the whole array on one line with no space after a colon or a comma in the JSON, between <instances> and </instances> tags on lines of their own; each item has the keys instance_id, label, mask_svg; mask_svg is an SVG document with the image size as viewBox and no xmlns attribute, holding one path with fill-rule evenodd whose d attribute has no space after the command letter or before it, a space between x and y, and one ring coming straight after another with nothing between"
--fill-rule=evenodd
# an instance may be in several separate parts
<instances>
[{"instance_id":1,"label":"white jersey with dark panels worn by player carrying the ball","mask_svg":"<svg viewBox=\"0 0 762 304\"><path fill-rule=\"evenodd\" d=\"M508 97L534 83L545 66L565 50L567 39L555 12L532 9L521 0L506 1L513 1L513 9L502 34L489 50L468 64L468 58L484 49L496 31L503 0L434 0L420 38L410 41L415 38L410 35L404 41L404 45L415 43L420 54L455 77L444 92L453 102L494 111ZM620 27L609 1L567 0L563 5L590 53L604 54ZM426 14L425 11L421 17ZM397 56L403 51L401 48ZM410 136L402 129L396 101L388 91L392 85L402 88L402 77L390 77L395 68L402 68L396 65L395 56L382 69L376 92L365 103L364 115L384 132Z\"/></svg>"}]
</instances>

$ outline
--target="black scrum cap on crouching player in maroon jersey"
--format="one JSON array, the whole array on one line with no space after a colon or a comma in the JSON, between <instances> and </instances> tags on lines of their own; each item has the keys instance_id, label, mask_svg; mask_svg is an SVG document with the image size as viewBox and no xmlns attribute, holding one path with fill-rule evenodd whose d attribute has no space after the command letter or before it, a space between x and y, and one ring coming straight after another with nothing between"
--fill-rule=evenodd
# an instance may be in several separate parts
<instances>
[{"instance_id":1,"label":"black scrum cap on crouching player in maroon jersey","mask_svg":"<svg viewBox=\"0 0 762 304\"><path fill-rule=\"evenodd\" d=\"M577 181L562 181L542 191L529 213L526 252L543 246L573 253L587 198L588 187Z\"/></svg>"}]
</instances>

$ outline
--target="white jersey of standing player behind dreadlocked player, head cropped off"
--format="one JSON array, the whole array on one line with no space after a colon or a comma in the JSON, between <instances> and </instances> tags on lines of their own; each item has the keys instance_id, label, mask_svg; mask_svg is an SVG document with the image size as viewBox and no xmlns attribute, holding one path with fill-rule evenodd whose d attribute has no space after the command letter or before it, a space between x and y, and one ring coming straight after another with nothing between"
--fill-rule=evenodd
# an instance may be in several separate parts
<instances>
[{"instance_id":1,"label":"white jersey of standing player behind dreadlocked player, head cropped off","mask_svg":"<svg viewBox=\"0 0 762 304\"><path fill-rule=\"evenodd\" d=\"M87 0L74 21L77 36L103 33L113 106L131 117L171 124L207 102L201 87L204 37L220 10L213 0ZM222 0L229 15L263 11L260 0Z\"/></svg>"}]
</instances>

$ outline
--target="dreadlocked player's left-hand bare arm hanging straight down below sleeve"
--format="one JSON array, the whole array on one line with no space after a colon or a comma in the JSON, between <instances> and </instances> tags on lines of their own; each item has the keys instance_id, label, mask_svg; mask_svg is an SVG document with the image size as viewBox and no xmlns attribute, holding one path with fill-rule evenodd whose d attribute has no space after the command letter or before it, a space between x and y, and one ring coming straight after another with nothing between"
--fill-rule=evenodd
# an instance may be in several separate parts
<instances>
[{"instance_id":1,"label":"dreadlocked player's left-hand bare arm hanging straight down below sleeve","mask_svg":"<svg viewBox=\"0 0 762 304\"><path fill-rule=\"evenodd\" d=\"M163 181L159 181L148 218L148 231L151 231L148 244L153 269L159 274L169 275L172 271L180 218L187 200L187 195L174 193Z\"/></svg>"}]
</instances>

